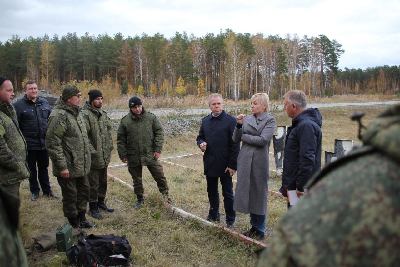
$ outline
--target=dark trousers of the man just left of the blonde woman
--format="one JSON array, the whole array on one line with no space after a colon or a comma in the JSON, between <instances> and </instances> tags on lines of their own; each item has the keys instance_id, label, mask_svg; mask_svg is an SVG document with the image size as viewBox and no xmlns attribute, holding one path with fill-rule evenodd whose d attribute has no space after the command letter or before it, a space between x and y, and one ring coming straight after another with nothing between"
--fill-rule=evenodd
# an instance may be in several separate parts
<instances>
[{"instance_id":1,"label":"dark trousers of the man just left of the blonde woman","mask_svg":"<svg viewBox=\"0 0 400 267\"><path fill-rule=\"evenodd\" d=\"M222 187L222 196L224 197L224 208L226 223L234 223L236 212L233 210L233 184L232 176L220 176ZM208 218L216 220L220 218L220 194L218 192L218 177L206 176L208 200L210 201L210 210Z\"/></svg>"}]
</instances>

